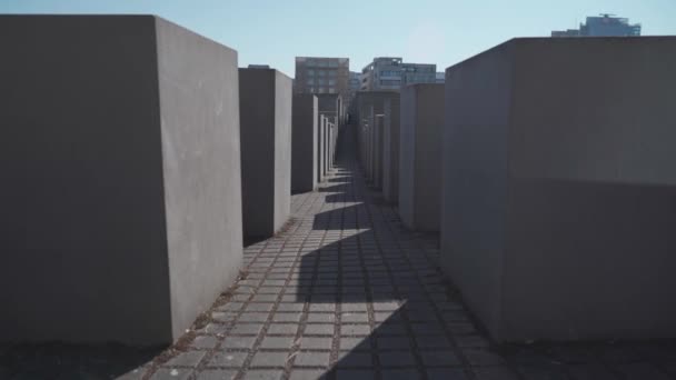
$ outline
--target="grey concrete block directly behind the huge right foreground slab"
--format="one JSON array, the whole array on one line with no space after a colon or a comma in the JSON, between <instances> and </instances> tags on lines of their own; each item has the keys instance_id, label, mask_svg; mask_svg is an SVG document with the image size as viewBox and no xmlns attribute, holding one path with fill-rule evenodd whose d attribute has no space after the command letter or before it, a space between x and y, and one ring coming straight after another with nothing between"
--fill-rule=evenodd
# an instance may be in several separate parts
<instances>
[{"instance_id":1,"label":"grey concrete block directly behind the huge right foreground slab","mask_svg":"<svg viewBox=\"0 0 676 380\"><path fill-rule=\"evenodd\" d=\"M414 230L439 231L444 84L404 88L400 120L401 221Z\"/></svg>"}]
</instances>

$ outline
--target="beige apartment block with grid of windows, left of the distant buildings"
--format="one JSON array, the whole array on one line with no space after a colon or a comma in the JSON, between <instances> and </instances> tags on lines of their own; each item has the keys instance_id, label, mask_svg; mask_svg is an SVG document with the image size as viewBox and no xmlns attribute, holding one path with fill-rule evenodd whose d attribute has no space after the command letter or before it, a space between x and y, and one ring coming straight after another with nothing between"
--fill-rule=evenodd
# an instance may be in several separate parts
<instances>
[{"instance_id":1,"label":"beige apartment block with grid of windows, left of the distant buildings","mask_svg":"<svg viewBox=\"0 0 676 380\"><path fill-rule=\"evenodd\" d=\"M349 96L349 58L296 57L295 93Z\"/></svg>"}]
</instances>

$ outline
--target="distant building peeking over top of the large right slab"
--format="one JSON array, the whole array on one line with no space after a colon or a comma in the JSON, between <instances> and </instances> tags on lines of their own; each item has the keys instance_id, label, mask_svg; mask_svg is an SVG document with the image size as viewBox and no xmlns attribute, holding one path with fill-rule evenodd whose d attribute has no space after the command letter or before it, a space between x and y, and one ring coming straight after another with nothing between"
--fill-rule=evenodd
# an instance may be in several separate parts
<instances>
[{"instance_id":1,"label":"distant building peeking over top of the large right slab","mask_svg":"<svg viewBox=\"0 0 676 380\"><path fill-rule=\"evenodd\" d=\"M629 19L600 14L588 17L579 29L555 30L551 37L635 37L640 36L640 23L630 24Z\"/></svg>"}]
</instances>

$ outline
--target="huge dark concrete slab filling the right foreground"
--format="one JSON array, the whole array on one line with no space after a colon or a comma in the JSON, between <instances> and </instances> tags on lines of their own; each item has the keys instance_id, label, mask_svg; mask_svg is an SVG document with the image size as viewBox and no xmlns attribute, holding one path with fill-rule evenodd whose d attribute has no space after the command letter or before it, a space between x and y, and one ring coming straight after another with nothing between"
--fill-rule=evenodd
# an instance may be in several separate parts
<instances>
[{"instance_id":1,"label":"huge dark concrete slab filling the right foreground","mask_svg":"<svg viewBox=\"0 0 676 380\"><path fill-rule=\"evenodd\" d=\"M676 338L676 38L446 71L441 262L499 341Z\"/></svg>"}]
</instances>

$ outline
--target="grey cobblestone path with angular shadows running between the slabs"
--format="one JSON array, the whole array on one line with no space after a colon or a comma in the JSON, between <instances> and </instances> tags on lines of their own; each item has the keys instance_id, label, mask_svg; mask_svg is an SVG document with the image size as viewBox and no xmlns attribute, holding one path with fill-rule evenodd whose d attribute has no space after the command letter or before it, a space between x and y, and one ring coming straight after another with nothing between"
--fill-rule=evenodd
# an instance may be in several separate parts
<instances>
[{"instance_id":1,"label":"grey cobblestone path with angular shadows running between the slabs","mask_svg":"<svg viewBox=\"0 0 676 380\"><path fill-rule=\"evenodd\" d=\"M407 231L346 146L319 191L294 196L285 232L246 248L230 301L155 378L672 379L673 343L493 346L444 282L438 237Z\"/></svg>"}]
</instances>

